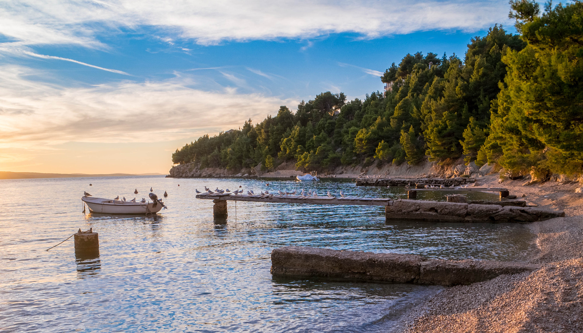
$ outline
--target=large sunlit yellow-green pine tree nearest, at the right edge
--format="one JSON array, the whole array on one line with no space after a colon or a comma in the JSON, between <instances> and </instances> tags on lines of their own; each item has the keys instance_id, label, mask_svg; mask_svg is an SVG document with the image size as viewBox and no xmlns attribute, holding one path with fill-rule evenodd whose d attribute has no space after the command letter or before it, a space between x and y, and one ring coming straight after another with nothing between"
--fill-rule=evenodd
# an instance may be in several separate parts
<instances>
[{"instance_id":1,"label":"large sunlit yellow-green pine tree nearest, at the right edge","mask_svg":"<svg viewBox=\"0 0 583 333\"><path fill-rule=\"evenodd\" d=\"M492 104L489 136L502 153L488 159L522 174L582 173L583 3L547 3L540 16L533 1L511 6L528 45L503 57L508 75Z\"/></svg>"}]
</instances>

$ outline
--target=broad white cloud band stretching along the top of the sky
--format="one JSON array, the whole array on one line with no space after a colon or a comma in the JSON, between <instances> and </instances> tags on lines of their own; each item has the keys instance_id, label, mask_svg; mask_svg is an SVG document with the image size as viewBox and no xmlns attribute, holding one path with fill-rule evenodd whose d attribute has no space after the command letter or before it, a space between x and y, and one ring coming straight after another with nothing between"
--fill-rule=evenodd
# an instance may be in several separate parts
<instances>
[{"instance_id":1,"label":"broad white cloud band stretching along the top of the sky","mask_svg":"<svg viewBox=\"0 0 583 333\"><path fill-rule=\"evenodd\" d=\"M375 38L436 29L476 31L509 22L507 12L506 0L6 0L0 3L0 33L25 45L107 48L98 34L153 26L171 36L160 37L166 43L182 38L206 45L342 32Z\"/></svg>"}]
</instances>

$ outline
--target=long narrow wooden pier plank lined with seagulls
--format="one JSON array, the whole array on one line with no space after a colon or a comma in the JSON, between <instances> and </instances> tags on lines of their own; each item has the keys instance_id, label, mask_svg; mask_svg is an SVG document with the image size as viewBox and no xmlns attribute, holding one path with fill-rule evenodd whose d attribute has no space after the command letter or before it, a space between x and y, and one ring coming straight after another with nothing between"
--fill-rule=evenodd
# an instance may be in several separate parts
<instances>
[{"instance_id":1,"label":"long narrow wooden pier plank lined with seagulls","mask_svg":"<svg viewBox=\"0 0 583 333\"><path fill-rule=\"evenodd\" d=\"M224 200L224 201L252 201L252 202L281 202L286 204L310 204L310 205L363 205L363 206L392 206L393 199L388 198L361 198L361 197L303 197L301 195L247 195L224 194L198 194L198 199Z\"/></svg>"}]
</instances>

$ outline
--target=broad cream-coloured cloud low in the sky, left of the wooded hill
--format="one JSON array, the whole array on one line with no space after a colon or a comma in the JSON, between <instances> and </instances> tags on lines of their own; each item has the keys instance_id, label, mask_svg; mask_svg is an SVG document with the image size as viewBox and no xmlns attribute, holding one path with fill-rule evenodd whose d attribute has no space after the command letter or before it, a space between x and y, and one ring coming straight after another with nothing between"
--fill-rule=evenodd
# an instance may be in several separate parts
<instances>
[{"instance_id":1,"label":"broad cream-coloured cloud low in the sky, left of the wooded hill","mask_svg":"<svg viewBox=\"0 0 583 333\"><path fill-rule=\"evenodd\" d=\"M62 142L153 142L196 137L263 119L295 100L190 89L189 78L89 87L31 81L41 71L0 66L0 148ZM34 144L33 144L34 143Z\"/></svg>"}]
</instances>

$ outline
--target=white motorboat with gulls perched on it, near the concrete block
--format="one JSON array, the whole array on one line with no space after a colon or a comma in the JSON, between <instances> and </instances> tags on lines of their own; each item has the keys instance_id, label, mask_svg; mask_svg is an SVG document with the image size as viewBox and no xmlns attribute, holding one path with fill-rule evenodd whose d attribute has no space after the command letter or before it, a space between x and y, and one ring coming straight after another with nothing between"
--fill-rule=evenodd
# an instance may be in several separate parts
<instances>
[{"instance_id":1,"label":"white motorboat with gulls perched on it, near the concrete block","mask_svg":"<svg viewBox=\"0 0 583 333\"><path fill-rule=\"evenodd\" d=\"M132 202L94 197L81 197L81 200L87 204L90 211L106 214L155 214L164 206L158 201Z\"/></svg>"}]
</instances>

